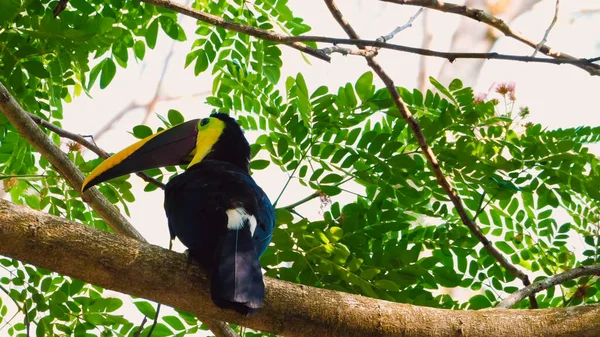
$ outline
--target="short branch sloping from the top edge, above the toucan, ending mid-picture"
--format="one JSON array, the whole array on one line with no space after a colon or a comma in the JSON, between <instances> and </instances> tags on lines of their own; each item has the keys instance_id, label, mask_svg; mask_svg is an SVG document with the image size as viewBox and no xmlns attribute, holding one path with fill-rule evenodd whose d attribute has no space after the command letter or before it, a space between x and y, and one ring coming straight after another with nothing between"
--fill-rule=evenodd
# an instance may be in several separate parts
<instances>
[{"instance_id":1,"label":"short branch sloping from the top edge, above the toucan, ending mid-picture","mask_svg":"<svg viewBox=\"0 0 600 337\"><path fill-rule=\"evenodd\" d=\"M200 20L202 22L206 22L213 26L223 27L227 30L231 30L234 32L242 33L242 34L247 34L247 35L254 36L254 37L257 37L257 38L263 39L263 40L285 44L286 46L290 46L294 49L297 49L301 52L307 53L309 55L312 55L316 58L319 58L319 59L327 61L327 62L329 62L331 60L331 58L328 55L323 54L321 51L311 48L303 43L285 42L284 39L286 36L283 34L279 34L279 33L268 31L268 30L263 30L260 28L244 25L244 24L237 23L237 22L228 21L221 17L215 16L215 15L212 15L209 13L204 13L204 12L195 10L191 7L180 5L178 3L175 3L175 2L169 1L169 0L139 0L139 1L151 4L151 5L155 5L158 7L168 8L177 13L192 17L192 18Z\"/></svg>"}]
</instances>

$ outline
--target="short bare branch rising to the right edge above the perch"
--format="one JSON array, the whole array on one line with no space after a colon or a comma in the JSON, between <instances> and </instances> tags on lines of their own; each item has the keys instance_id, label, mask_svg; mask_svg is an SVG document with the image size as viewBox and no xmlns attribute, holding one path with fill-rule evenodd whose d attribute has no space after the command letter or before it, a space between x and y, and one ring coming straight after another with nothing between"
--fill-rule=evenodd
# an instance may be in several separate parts
<instances>
[{"instance_id":1,"label":"short bare branch rising to the right edge above the perch","mask_svg":"<svg viewBox=\"0 0 600 337\"><path fill-rule=\"evenodd\" d=\"M497 307L508 309L513 305L519 303L525 297L535 295L536 293L539 293L542 290L552 288L555 285L562 284L569 280L573 280L587 275L600 276L600 265L581 266L567 270L564 273L552 275L542 281L535 282L511 294L510 296L505 298L500 304L498 304Z\"/></svg>"}]
</instances>

